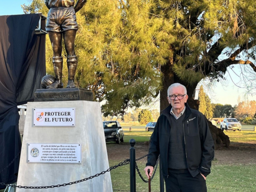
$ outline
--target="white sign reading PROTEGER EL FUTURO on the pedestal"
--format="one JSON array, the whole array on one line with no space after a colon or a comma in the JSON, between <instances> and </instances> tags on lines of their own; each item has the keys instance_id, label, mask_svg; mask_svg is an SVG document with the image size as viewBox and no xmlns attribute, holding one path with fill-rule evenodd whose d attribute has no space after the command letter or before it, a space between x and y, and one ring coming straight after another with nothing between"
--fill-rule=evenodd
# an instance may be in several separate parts
<instances>
[{"instance_id":1,"label":"white sign reading PROTEGER EL FUTURO on the pedestal","mask_svg":"<svg viewBox=\"0 0 256 192\"><path fill-rule=\"evenodd\" d=\"M75 126L75 108L34 108L34 126Z\"/></svg>"}]
</instances>

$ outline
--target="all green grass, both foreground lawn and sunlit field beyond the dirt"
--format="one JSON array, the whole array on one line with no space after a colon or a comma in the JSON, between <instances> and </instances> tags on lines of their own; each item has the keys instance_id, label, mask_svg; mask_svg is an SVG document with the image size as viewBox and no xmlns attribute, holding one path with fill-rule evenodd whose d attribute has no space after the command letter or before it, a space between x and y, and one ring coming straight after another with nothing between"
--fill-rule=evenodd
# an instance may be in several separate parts
<instances>
[{"instance_id":1,"label":"all green grass, both foreground lawn and sunlit field beyond the dirt","mask_svg":"<svg viewBox=\"0 0 256 192\"><path fill-rule=\"evenodd\" d=\"M129 131L129 127L132 128ZM137 143L149 141L152 131L145 131L145 126L125 125L123 126L125 142L135 139ZM256 132L253 131L224 131L231 142L256 144ZM232 144L232 143L231 143ZM136 144L135 144L136 149ZM235 153L235 151L234 151ZM146 154L145 154L146 155ZM256 159L256 157L255 157ZM124 160L124 159L123 159ZM121 161L109 160L109 165L117 165ZM137 165L144 176L146 158L139 160ZM213 161L212 173L207 177L208 192L256 192L256 164L254 165L219 165L218 160ZM144 176L145 177L145 176ZM129 164L118 167L111 171L112 186L114 192L130 191ZM86 181L85 181L86 182ZM151 192L159 192L159 170L151 181ZM148 184L144 183L136 173L136 191L148 192ZM0 192L3 192L3 190Z\"/></svg>"}]
</instances>

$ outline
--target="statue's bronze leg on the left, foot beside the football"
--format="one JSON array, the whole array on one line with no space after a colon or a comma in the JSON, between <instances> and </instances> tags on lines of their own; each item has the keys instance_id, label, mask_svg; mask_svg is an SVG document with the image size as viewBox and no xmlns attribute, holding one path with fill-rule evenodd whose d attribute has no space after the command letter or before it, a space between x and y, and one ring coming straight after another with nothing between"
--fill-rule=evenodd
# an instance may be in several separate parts
<instances>
[{"instance_id":1,"label":"statue's bronze leg on the left, foot beside the football","mask_svg":"<svg viewBox=\"0 0 256 192\"><path fill-rule=\"evenodd\" d=\"M53 47L53 69L56 80L52 85L47 86L47 89L63 88L61 83L63 68L63 58L61 57L62 34L60 32L48 32L48 34Z\"/></svg>"}]
</instances>

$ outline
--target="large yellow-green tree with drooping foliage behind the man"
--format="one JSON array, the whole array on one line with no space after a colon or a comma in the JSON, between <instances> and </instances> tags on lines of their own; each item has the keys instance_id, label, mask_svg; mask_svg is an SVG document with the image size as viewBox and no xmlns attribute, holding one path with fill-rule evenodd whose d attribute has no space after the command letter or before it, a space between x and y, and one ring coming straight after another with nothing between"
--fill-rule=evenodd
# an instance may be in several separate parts
<instances>
[{"instance_id":1,"label":"large yellow-green tree with drooping foliage behind the man","mask_svg":"<svg viewBox=\"0 0 256 192\"><path fill-rule=\"evenodd\" d=\"M233 64L256 72L255 5L253 0L88 1L77 13L75 81L92 90L95 101L106 101L105 116L147 104L159 91L163 110L174 82L187 87L188 103L198 109L192 98L200 80L219 80Z\"/></svg>"}]
</instances>

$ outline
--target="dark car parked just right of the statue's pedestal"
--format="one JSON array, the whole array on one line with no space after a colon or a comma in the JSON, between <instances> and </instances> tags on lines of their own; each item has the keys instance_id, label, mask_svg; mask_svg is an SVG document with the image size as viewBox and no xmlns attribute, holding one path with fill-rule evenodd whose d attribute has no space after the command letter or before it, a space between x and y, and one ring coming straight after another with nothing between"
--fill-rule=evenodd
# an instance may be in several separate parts
<instances>
[{"instance_id":1,"label":"dark car parked just right of the statue's pedestal","mask_svg":"<svg viewBox=\"0 0 256 192\"><path fill-rule=\"evenodd\" d=\"M120 144L124 140L123 129L118 121L103 121L106 141L115 141Z\"/></svg>"}]
</instances>

